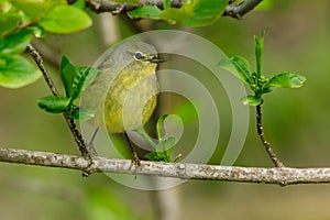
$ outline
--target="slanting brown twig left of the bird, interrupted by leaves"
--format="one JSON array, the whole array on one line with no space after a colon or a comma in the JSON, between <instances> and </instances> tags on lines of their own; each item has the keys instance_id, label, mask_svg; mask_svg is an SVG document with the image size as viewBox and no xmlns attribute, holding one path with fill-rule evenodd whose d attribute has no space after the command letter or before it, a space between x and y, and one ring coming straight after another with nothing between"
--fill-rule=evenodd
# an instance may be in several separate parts
<instances>
[{"instance_id":1,"label":"slanting brown twig left of the bird, interrupted by leaves","mask_svg":"<svg viewBox=\"0 0 330 220\"><path fill-rule=\"evenodd\" d=\"M38 52L31 44L28 45L28 52L33 57L35 64L38 66L40 70L42 72L42 74L44 76L44 79L45 79L46 84L48 85L52 94L54 96L58 97L59 92L56 89L56 87L54 85L54 81L52 80L50 74L47 73L47 70L46 70L46 68L43 64L42 56L38 54ZM67 113L63 113L63 114L64 114L64 118L65 118L65 120L66 120L74 138L75 138L75 141L76 141L76 143L79 147L79 151L80 151L81 155L85 156L85 157L89 157L89 160L91 161L91 156L90 156L90 154L87 150L86 142L84 141L82 135L78 131L75 121Z\"/></svg>"}]
</instances>

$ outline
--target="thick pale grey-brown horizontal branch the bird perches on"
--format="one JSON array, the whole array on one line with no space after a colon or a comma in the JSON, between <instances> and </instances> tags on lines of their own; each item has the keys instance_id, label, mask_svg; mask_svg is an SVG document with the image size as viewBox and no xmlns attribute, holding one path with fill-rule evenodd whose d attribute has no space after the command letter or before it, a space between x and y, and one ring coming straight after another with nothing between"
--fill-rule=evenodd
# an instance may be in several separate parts
<instances>
[{"instance_id":1,"label":"thick pale grey-brown horizontal branch the bird perches on","mask_svg":"<svg viewBox=\"0 0 330 220\"><path fill-rule=\"evenodd\" d=\"M0 147L0 162L50 166L85 170L90 173L119 173L131 175L151 175L182 179L209 179L280 186L294 184L330 183L330 168L262 168L216 166L202 164L158 163L142 161L141 166L129 160L95 157L90 165L86 157L76 155L32 152Z\"/></svg>"}]
</instances>

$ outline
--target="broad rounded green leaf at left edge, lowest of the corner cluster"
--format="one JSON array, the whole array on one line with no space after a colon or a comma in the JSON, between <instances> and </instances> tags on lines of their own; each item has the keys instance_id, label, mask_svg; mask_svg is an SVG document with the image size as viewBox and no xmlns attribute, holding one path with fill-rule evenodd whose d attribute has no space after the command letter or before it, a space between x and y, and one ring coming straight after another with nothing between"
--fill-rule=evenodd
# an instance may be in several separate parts
<instances>
[{"instance_id":1,"label":"broad rounded green leaf at left edge, lowest of the corner cluster","mask_svg":"<svg viewBox=\"0 0 330 220\"><path fill-rule=\"evenodd\" d=\"M0 56L0 86L20 88L41 77L41 72L20 55Z\"/></svg>"}]
</instances>

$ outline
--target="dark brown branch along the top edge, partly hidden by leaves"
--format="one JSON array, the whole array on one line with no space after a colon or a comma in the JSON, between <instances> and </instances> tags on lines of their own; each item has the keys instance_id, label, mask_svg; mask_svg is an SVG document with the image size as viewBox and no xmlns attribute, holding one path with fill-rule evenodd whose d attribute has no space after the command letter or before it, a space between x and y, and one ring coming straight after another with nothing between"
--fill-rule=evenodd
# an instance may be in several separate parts
<instances>
[{"instance_id":1,"label":"dark brown branch along the top edge, partly hidden by leaves","mask_svg":"<svg viewBox=\"0 0 330 220\"><path fill-rule=\"evenodd\" d=\"M230 1L229 6L223 12L223 16L232 16L234 19L242 19L244 14L252 11L262 0L245 0L239 4L234 1ZM163 8L164 0L140 0L139 4L135 3L120 3L112 0L86 0L86 4L92 11L111 12L113 14L125 13L133 11L142 6L156 6ZM173 8L180 8L185 3L185 0L170 0Z\"/></svg>"}]
</instances>

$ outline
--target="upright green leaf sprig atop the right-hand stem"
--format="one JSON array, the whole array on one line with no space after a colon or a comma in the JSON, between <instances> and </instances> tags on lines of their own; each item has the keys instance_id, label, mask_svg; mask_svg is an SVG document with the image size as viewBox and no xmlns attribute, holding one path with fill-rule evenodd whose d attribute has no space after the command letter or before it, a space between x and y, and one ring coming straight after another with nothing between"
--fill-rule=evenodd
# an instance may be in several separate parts
<instances>
[{"instance_id":1,"label":"upright green leaf sprig atop the right-hand stem","mask_svg":"<svg viewBox=\"0 0 330 220\"><path fill-rule=\"evenodd\" d=\"M242 56L229 56L219 62L219 67L229 70L237 76L242 82L250 86L254 92L253 96L246 96L242 98L244 105L258 106L262 103L262 96L267 92L274 91L276 88L299 88L306 81L306 77L283 72L271 79L267 79L262 74L262 62L264 52L264 32L258 38L254 36L255 43L255 61L256 70L253 72L248 59Z\"/></svg>"}]
</instances>

